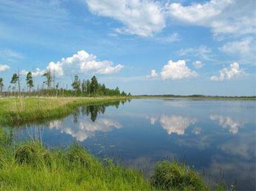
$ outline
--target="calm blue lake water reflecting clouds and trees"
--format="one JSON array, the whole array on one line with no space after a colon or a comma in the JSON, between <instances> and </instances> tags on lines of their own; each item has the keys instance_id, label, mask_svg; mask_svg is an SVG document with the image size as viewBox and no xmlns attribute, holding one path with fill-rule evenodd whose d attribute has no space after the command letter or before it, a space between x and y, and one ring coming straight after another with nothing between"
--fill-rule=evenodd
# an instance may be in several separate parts
<instances>
[{"instance_id":1,"label":"calm blue lake water reflecting clouds and trees","mask_svg":"<svg viewBox=\"0 0 256 191\"><path fill-rule=\"evenodd\" d=\"M16 130L16 139L51 147L80 142L150 174L156 161L175 157L210 181L255 190L255 101L139 99L80 107L44 125ZM208 179L208 178L207 178Z\"/></svg>"}]
</instances>

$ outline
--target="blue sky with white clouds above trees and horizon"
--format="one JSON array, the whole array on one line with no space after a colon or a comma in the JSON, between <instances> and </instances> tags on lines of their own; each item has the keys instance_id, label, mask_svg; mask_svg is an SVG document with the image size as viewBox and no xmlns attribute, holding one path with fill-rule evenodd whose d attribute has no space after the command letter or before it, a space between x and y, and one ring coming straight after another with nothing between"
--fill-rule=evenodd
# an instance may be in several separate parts
<instances>
[{"instance_id":1,"label":"blue sky with white clouds above trees and horizon","mask_svg":"<svg viewBox=\"0 0 256 191\"><path fill-rule=\"evenodd\" d=\"M132 95L256 95L254 0L1 0L0 78ZM39 85L40 86L40 85ZM41 87L41 86L40 86Z\"/></svg>"}]
</instances>

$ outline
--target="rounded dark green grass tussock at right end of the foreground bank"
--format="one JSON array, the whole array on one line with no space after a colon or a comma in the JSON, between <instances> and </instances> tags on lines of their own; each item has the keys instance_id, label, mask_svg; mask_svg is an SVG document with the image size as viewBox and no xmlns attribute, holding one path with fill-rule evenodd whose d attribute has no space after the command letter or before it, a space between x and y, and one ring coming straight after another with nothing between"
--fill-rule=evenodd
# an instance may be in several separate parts
<instances>
[{"instance_id":1,"label":"rounded dark green grass tussock at right end of the foreground bank","mask_svg":"<svg viewBox=\"0 0 256 191\"><path fill-rule=\"evenodd\" d=\"M151 184L161 190L207 190L200 175L176 161L157 163Z\"/></svg>"}]
</instances>

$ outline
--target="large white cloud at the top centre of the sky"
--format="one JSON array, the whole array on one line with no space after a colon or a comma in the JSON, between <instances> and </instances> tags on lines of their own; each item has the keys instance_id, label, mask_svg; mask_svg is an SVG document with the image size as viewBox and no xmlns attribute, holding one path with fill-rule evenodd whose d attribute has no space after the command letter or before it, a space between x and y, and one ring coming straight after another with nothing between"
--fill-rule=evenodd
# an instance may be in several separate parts
<instances>
[{"instance_id":1,"label":"large white cloud at the top centre of the sky","mask_svg":"<svg viewBox=\"0 0 256 191\"><path fill-rule=\"evenodd\" d=\"M165 27L165 16L159 3L150 0L86 0L89 10L99 16L112 17L124 25L115 32L153 36Z\"/></svg>"}]
</instances>

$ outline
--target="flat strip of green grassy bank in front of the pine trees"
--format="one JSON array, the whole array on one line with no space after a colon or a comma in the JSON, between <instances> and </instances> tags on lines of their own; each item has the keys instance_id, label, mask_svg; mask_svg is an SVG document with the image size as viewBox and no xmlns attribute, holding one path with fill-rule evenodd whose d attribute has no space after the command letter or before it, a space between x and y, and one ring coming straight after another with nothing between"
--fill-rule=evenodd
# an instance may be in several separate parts
<instances>
[{"instance_id":1,"label":"flat strip of green grassy bank in front of the pine trees","mask_svg":"<svg viewBox=\"0 0 256 191\"><path fill-rule=\"evenodd\" d=\"M104 98L2 98L0 99L0 124L20 126L30 122L65 117L78 106L104 104L124 100L126 97Z\"/></svg>"}]
</instances>

